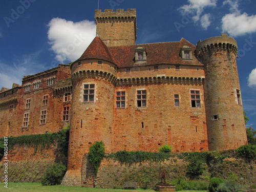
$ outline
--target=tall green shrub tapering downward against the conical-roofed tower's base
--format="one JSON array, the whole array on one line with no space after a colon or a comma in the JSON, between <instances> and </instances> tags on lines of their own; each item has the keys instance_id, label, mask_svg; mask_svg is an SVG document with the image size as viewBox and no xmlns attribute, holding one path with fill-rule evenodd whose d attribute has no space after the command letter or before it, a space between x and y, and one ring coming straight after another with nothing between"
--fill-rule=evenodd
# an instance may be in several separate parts
<instances>
[{"instance_id":1,"label":"tall green shrub tapering downward against the conical-roofed tower's base","mask_svg":"<svg viewBox=\"0 0 256 192\"><path fill-rule=\"evenodd\" d=\"M89 161L93 165L95 175L97 175L100 162L103 159L104 155L105 155L104 143L102 141L100 142L96 141L96 143L90 147L90 151L88 153Z\"/></svg>"}]
</instances>

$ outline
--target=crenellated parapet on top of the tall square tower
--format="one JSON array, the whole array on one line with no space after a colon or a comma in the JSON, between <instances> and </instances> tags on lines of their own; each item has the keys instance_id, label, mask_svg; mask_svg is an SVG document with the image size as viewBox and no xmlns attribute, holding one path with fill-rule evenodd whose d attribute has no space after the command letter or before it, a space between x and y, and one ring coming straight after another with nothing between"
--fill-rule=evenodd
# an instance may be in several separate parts
<instances>
[{"instance_id":1,"label":"crenellated parapet on top of the tall square tower","mask_svg":"<svg viewBox=\"0 0 256 192\"><path fill-rule=\"evenodd\" d=\"M124 9L116 9L116 11L105 9L104 12L101 9L95 10L95 19L105 17L136 17L136 9L127 9L127 11L124 11Z\"/></svg>"}]
</instances>

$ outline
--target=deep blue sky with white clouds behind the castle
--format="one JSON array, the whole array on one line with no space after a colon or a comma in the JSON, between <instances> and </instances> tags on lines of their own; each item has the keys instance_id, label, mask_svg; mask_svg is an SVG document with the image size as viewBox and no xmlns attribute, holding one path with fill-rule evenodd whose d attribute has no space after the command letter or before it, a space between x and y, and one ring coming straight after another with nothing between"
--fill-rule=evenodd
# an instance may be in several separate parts
<instances>
[{"instance_id":1,"label":"deep blue sky with white clouds behind the castle","mask_svg":"<svg viewBox=\"0 0 256 192\"><path fill-rule=\"evenodd\" d=\"M0 89L24 75L79 58L95 37L98 0L2 0ZM238 42L237 60L247 126L256 127L256 1L100 0L99 9L137 9L137 44L178 41L197 44L228 33Z\"/></svg>"}]
</instances>

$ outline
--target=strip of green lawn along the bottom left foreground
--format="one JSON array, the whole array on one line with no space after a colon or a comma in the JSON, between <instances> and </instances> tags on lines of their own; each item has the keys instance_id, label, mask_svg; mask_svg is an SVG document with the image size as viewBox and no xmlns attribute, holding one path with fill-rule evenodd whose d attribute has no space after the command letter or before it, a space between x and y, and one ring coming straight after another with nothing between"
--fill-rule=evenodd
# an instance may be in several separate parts
<instances>
[{"instance_id":1,"label":"strip of green lawn along the bottom left foreground","mask_svg":"<svg viewBox=\"0 0 256 192\"><path fill-rule=\"evenodd\" d=\"M19 191L19 192L55 192L55 191L61 191L61 192L142 192L142 191L155 191L153 189L149 190L143 190L143 189L137 189L137 190L128 190L128 189L102 189L102 188L87 188L87 187L67 187L67 186L61 186L61 185L54 185L54 186L42 186L41 183L8 183L8 188L4 187L4 183L0 184L0 191ZM182 192L182 191L180 191ZM193 192L189 190L189 192ZM197 191L199 192L199 191ZM205 192L205 191L203 191Z\"/></svg>"}]
</instances>

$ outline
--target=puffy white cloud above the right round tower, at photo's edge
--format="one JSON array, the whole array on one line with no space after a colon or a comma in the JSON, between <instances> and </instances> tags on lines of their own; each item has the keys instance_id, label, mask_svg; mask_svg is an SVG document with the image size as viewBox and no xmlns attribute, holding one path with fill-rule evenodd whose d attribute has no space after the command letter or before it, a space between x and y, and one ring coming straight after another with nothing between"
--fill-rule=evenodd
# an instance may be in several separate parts
<instances>
[{"instance_id":1,"label":"puffy white cloud above the right round tower, at photo's edge","mask_svg":"<svg viewBox=\"0 0 256 192\"><path fill-rule=\"evenodd\" d=\"M256 32L256 15L230 13L222 17L222 32L232 36Z\"/></svg>"}]
</instances>

